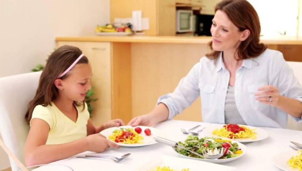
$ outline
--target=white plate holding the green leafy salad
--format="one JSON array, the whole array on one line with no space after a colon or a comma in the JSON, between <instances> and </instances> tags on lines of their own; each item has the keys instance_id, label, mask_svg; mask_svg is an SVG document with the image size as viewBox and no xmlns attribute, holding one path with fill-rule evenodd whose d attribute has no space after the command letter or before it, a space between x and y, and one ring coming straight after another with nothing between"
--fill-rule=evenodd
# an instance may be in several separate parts
<instances>
[{"instance_id":1,"label":"white plate holding the green leafy salad","mask_svg":"<svg viewBox=\"0 0 302 171\"><path fill-rule=\"evenodd\" d=\"M181 141L181 142L185 142L185 140ZM234 143L236 141L232 141L232 143ZM240 157L242 157L244 154L246 154L246 146L243 145L242 143L240 142L236 142L238 144L238 147L239 149L242 150L242 154L237 156L237 157L232 157L232 158L226 158L226 159L201 159L201 158L195 158L195 157L189 157L189 156L185 156L185 155L182 155L182 154L179 154L175 148L172 148L173 151L175 151L178 155L180 155L181 157L184 157L184 158L189 158L189 159L194 159L194 160L201 160L201 161L206 161L206 162L211 162L211 163L225 163L225 162L229 162L229 161L233 161L233 160L236 160L236 159L239 159Z\"/></svg>"}]
</instances>

